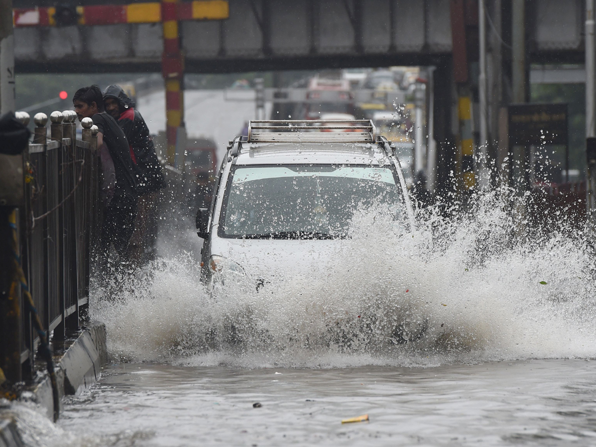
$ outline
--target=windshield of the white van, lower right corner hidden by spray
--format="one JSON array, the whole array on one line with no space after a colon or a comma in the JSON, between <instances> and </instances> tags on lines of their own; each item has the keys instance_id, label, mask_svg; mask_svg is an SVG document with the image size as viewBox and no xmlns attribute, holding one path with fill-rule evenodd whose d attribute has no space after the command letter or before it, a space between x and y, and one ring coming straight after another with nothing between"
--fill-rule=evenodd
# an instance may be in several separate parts
<instances>
[{"instance_id":1,"label":"windshield of the white van, lower right corner hidden by spray","mask_svg":"<svg viewBox=\"0 0 596 447\"><path fill-rule=\"evenodd\" d=\"M392 166L235 166L222 209L222 237L343 238L356 210L405 205Z\"/></svg>"}]
</instances>

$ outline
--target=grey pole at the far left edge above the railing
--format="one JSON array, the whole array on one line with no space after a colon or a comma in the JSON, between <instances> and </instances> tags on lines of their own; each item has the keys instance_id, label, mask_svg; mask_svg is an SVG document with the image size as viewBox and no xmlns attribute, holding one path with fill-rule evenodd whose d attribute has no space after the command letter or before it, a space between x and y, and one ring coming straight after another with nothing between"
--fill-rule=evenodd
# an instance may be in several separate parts
<instances>
[{"instance_id":1,"label":"grey pole at the far left edge above the railing","mask_svg":"<svg viewBox=\"0 0 596 447\"><path fill-rule=\"evenodd\" d=\"M14 112L13 0L0 0L0 113Z\"/></svg>"}]
</instances>

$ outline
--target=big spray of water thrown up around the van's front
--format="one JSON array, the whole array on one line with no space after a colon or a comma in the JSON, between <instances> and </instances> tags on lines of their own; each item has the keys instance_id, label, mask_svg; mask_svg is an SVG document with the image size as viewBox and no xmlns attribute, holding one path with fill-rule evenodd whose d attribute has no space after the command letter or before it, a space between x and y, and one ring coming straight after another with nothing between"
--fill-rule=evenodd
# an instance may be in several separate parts
<instances>
[{"instance_id":1,"label":"big spray of water thrown up around the van's front","mask_svg":"<svg viewBox=\"0 0 596 447\"><path fill-rule=\"evenodd\" d=\"M109 299L97 290L91 315L107 325L111 354L129 361L346 367L592 358L590 238L567 222L529 229L519 206L526 201L502 188L450 217L426 209L414 234L380 211L362 213L328 262L259 291L239 281L209 293L194 253L170 256Z\"/></svg>"}]
</instances>

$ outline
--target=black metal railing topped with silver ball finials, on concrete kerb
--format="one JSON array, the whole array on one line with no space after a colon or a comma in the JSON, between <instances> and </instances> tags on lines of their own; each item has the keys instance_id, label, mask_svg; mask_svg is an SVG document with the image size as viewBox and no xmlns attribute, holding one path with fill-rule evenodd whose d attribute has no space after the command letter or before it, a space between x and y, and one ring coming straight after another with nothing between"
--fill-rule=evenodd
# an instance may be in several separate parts
<instances>
[{"instance_id":1,"label":"black metal railing topped with silver ball finials, on concrete kerb","mask_svg":"<svg viewBox=\"0 0 596 447\"><path fill-rule=\"evenodd\" d=\"M24 124L29 115L17 113ZM57 343L79 328L89 300L91 257L101 225L97 126L83 120L76 138L76 114L34 117L35 134L25 155L26 206L20 213L23 270L41 321ZM21 306L21 309L23 307ZM38 338L29 312L21 322L24 378L33 371Z\"/></svg>"}]
</instances>

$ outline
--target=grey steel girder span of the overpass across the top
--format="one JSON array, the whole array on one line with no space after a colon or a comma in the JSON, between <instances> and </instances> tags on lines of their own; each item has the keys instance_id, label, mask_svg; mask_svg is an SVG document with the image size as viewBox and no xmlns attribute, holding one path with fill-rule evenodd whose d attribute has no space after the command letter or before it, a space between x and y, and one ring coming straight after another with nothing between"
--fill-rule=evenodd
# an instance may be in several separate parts
<instances>
[{"instance_id":1,"label":"grey steel girder span of the overpass across the top","mask_svg":"<svg viewBox=\"0 0 596 447\"><path fill-rule=\"evenodd\" d=\"M15 8L40 2L15 0ZM87 2L85 2L87 3ZM95 1L115 4L117 1ZM127 2L130 3L130 2ZM229 18L184 21L188 73L436 65L454 49L455 0L229 0ZM472 4L473 1L465 1ZM511 45L511 7L487 2L502 46ZM583 61L583 2L527 2L529 63ZM469 14L468 11L465 14ZM501 15L500 20L498 15ZM477 17L464 17L477 26ZM500 23L496 23L500 21ZM38 27L16 23L20 73L160 72L162 27L155 23ZM458 30L456 29L455 32ZM472 51L477 52L476 49Z\"/></svg>"}]
</instances>

